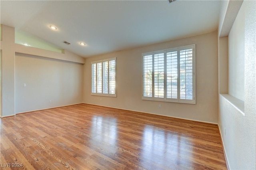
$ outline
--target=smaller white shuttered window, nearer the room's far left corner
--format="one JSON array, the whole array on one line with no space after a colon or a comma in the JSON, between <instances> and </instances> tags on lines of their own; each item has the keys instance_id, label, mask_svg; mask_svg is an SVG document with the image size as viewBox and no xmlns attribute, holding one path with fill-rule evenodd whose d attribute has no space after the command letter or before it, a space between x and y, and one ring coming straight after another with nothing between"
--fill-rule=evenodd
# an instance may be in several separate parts
<instances>
[{"instance_id":1,"label":"smaller white shuttered window, nearer the room's far left corner","mask_svg":"<svg viewBox=\"0 0 256 170\"><path fill-rule=\"evenodd\" d=\"M116 97L116 58L93 61L91 95Z\"/></svg>"}]
</instances>

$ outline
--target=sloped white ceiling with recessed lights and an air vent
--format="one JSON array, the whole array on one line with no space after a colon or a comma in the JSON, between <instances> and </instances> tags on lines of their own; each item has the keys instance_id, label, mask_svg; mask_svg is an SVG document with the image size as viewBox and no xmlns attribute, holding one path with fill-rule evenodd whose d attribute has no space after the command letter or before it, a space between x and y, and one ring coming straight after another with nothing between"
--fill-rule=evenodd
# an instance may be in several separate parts
<instances>
[{"instance_id":1,"label":"sloped white ceiling with recessed lights and an air vent","mask_svg":"<svg viewBox=\"0 0 256 170\"><path fill-rule=\"evenodd\" d=\"M217 30L220 4L219 0L1 0L0 17L1 24L16 31L89 57Z\"/></svg>"}]
</instances>

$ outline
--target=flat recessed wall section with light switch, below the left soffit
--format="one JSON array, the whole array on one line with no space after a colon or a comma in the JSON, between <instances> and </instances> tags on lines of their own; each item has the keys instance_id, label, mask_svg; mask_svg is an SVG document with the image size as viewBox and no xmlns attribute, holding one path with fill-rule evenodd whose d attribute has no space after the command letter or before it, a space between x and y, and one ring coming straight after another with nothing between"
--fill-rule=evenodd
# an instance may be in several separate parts
<instances>
[{"instance_id":1,"label":"flat recessed wall section with light switch, below the left soffit","mask_svg":"<svg viewBox=\"0 0 256 170\"><path fill-rule=\"evenodd\" d=\"M16 54L15 113L81 103L82 83L82 64Z\"/></svg>"}]
</instances>

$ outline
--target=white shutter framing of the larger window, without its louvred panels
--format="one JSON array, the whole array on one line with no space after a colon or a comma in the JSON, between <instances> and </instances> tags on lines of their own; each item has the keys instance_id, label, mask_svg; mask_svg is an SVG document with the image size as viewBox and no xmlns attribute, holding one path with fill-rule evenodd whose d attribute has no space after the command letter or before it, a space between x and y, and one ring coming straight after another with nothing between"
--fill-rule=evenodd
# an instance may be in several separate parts
<instances>
[{"instance_id":1,"label":"white shutter framing of the larger window, without its louvred panels","mask_svg":"<svg viewBox=\"0 0 256 170\"><path fill-rule=\"evenodd\" d=\"M190 99L180 99L180 51L184 49L192 48L192 100ZM166 95L166 80L167 80L167 71L166 71L166 53L177 51L177 99L167 98ZM154 55L164 53L164 97L154 97ZM144 56L152 55L152 97L144 96ZM163 49L158 51L150 51L146 53L142 53L142 100L150 100L150 101L164 101L164 102L172 102L172 103L186 103L186 104L196 104L196 44L185 45L180 47L174 47L169 49Z\"/></svg>"}]
</instances>

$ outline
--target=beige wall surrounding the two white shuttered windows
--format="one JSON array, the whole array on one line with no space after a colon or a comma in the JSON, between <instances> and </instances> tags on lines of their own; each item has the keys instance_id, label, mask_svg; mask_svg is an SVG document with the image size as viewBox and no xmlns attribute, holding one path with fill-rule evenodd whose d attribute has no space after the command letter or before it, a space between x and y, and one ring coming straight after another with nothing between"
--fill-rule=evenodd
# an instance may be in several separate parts
<instances>
[{"instance_id":1,"label":"beige wall surrounding the two white shuttered windows","mask_svg":"<svg viewBox=\"0 0 256 170\"><path fill-rule=\"evenodd\" d=\"M212 32L170 42L86 58L84 103L179 117L197 121L218 121L218 34ZM142 53L196 44L196 105L142 100ZM90 94L90 63L116 57L117 97ZM162 108L158 108L161 104Z\"/></svg>"}]
</instances>

